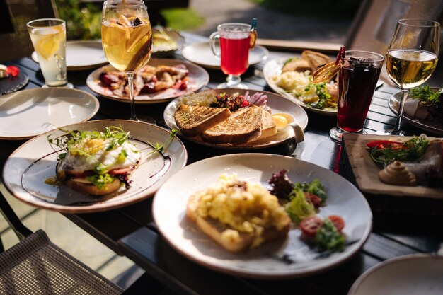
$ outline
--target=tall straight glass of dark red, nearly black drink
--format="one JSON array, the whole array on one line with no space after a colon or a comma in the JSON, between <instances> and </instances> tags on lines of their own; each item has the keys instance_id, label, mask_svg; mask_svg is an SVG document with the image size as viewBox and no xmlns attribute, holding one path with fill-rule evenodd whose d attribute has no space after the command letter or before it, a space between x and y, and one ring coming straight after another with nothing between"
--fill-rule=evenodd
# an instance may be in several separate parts
<instances>
[{"instance_id":1,"label":"tall straight glass of dark red, nearly black drink","mask_svg":"<svg viewBox=\"0 0 443 295\"><path fill-rule=\"evenodd\" d=\"M384 56L375 52L350 50L338 71L337 127L329 135L341 141L344 132L360 132L374 96Z\"/></svg>"}]
</instances>

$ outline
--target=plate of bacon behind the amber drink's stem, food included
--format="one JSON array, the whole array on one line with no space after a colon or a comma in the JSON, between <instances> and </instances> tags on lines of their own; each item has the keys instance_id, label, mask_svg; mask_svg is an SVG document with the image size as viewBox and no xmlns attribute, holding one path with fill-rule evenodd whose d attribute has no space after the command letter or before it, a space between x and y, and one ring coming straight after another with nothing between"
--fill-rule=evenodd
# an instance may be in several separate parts
<instances>
[{"instance_id":1,"label":"plate of bacon behind the amber drink's stem, food included","mask_svg":"<svg viewBox=\"0 0 443 295\"><path fill-rule=\"evenodd\" d=\"M209 74L201 66L178 59L151 59L134 73L135 103L165 103L207 85ZM95 93L130 103L125 72L102 66L89 74L86 84Z\"/></svg>"}]
</instances>

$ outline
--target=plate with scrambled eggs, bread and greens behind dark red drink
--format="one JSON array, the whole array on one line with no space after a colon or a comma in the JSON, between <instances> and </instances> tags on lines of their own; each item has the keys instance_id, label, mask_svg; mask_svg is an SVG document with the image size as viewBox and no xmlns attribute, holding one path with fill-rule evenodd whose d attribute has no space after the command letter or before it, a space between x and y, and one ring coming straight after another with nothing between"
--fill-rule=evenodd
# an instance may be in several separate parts
<instances>
[{"instance_id":1,"label":"plate with scrambled eggs, bread and greens behind dark red drink","mask_svg":"<svg viewBox=\"0 0 443 295\"><path fill-rule=\"evenodd\" d=\"M337 114L337 83L311 83L311 74L330 62L327 55L305 50L301 57L272 59L263 68L267 85L275 92L322 115Z\"/></svg>"}]
</instances>

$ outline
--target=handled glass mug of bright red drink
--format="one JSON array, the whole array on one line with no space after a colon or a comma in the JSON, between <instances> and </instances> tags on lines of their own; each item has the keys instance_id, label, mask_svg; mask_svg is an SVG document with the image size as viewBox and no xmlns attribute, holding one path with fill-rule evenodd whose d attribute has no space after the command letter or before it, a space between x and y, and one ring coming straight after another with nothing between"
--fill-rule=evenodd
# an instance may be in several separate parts
<instances>
[{"instance_id":1,"label":"handled glass mug of bright red drink","mask_svg":"<svg viewBox=\"0 0 443 295\"><path fill-rule=\"evenodd\" d=\"M240 83L240 75L248 69L249 50L255 45L256 34L254 23L223 23L217 26L217 32L210 37L210 44L214 55L221 59L222 71L228 75L226 83L217 88L248 88Z\"/></svg>"}]
</instances>

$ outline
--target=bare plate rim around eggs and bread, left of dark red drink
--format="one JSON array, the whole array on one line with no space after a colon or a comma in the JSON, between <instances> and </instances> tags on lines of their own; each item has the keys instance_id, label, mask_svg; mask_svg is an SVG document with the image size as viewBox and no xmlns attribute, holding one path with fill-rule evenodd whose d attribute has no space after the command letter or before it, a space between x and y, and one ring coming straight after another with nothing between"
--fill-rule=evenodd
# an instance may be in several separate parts
<instances>
[{"instance_id":1,"label":"bare plate rim around eggs and bread, left of dark red drink","mask_svg":"<svg viewBox=\"0 0 443 295\"><path fill-rule=\"evenodd\" d=\"M273 91L275 91L275 92L281 94L282 96L284 96L285 98L289 98L290 100L293 100L297 104L301 105L305 110L309 110L310 112L316 112L316 113L322 114L322 115L330 115L330 116L337 115L337 110L320 110L320 109L316 109L316 108L310 108L303 101L295 98L290 93L287 93L286 91L284 91L283 88L280 88L279 86L277 86L274 83L274 81L272 81L273 76L277 76L277 75L282 74L282 68L283 68L284 62L286 62L286 61L287 61L287 58L283 57L280 59L272 59L265 64L265 66L263 67L263 77L265 78L267 85L269 85Z\"/></svg>"}]
</instances>

